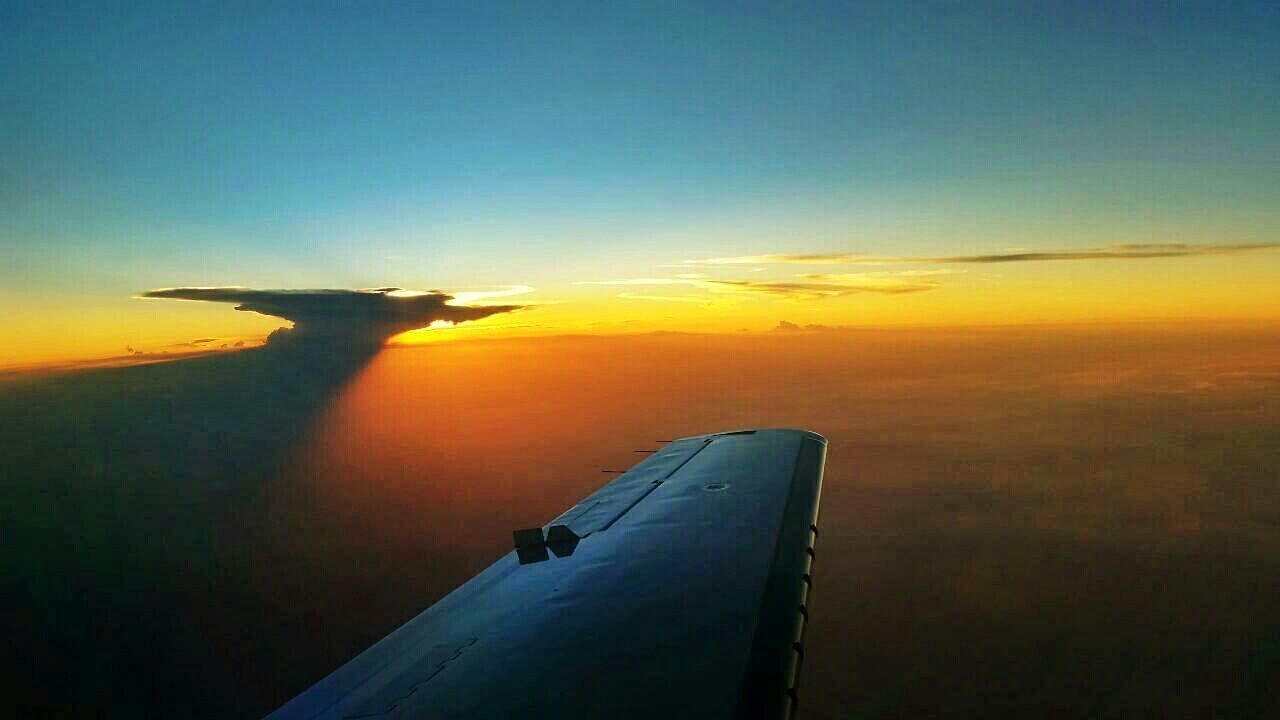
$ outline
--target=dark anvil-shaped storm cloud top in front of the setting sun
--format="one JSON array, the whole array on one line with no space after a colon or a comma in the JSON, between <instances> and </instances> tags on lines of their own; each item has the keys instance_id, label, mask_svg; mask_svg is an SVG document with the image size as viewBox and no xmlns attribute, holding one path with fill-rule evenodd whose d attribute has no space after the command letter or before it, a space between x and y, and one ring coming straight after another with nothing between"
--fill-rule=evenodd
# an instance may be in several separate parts
<instances>
[{"instance_id":1,"label":"dark anvil-shaped storm cloud top in front of the setting sun","mask_svg":"<svg viewBox=\"0 0 1280 720\"><path fill-rule=\"evenodd\" d=\"M333 340L376 343L424 328L435 320L465 323L518 310L520 305L451 305L444 292L410 293L394 287L372 290L251 290L243 287L170 287L142 297L234 302L237 310L284 318L292 331L271 333L271 341Z\"/></svg>"}]
</instances>

